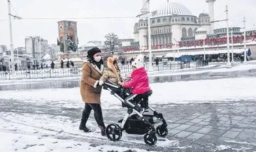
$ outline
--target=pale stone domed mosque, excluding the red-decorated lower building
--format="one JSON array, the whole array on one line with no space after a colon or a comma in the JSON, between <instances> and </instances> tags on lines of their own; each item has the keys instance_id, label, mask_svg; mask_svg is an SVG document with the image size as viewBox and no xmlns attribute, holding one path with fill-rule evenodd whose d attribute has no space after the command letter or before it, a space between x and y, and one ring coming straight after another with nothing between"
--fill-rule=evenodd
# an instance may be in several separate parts
<instances>
[{"instance_id":1,"label":"pale stone domed mosque, excluding the red-decorated lower building","mask_svg":"<svg viewBox=\"0 0 256 152\"><path fill-rule=\"evenodd\" d=\"M167 0L157 10L153 10L150 17L152 45L167 45L179 41L201 39L201 35L213 34L214 2L208 3L208 13L193 15L191 11L181 3ZM147 18L148 8L143 0L141 14ZM148 46L148 20L139 20L134 25L134 38L139 41L140 47Z\"/></svg>"}]
</instances>

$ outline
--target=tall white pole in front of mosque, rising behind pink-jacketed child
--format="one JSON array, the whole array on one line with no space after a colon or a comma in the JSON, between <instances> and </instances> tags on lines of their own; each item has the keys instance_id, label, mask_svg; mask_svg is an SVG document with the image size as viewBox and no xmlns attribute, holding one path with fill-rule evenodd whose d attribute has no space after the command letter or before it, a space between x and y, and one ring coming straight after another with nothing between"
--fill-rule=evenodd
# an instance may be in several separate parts
<instances>
[{"instance_id":1,"label":"tall white pole in front of mosque, rising behind pink-jacketed child","mask_svg":"<svg viewBox=\"0 0 256 152\"><path fill-rule=\"evenodd\" d=\"M149 52L149 66L148 66L148 70L152 71L150 15L151 15L151 13L150 13L150 0L148 0L148 52Z\"/></svg>"}]
</instances>

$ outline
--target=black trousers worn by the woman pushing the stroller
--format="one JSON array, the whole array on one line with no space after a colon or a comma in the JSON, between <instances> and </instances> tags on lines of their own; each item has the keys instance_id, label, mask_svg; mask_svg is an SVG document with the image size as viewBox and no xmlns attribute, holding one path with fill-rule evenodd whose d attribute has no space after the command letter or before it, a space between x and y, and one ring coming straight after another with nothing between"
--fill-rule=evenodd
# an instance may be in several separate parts
<instances>
[{"instance_id":1,"label":"black trousers worn by the woman pushing the stroller","mask_svg":"<svg viewBox=\"0 0 256 152\"><path fill-rule=\"evenodd\" d=\"M85 109L83 109L81 119L82 125L85 126L87 120L89 119L92 109L94 111L94 119L96 120L98 126L106 128L102 116L101 104L99 103L85 103Z\"/></svg>"}]
</instances>

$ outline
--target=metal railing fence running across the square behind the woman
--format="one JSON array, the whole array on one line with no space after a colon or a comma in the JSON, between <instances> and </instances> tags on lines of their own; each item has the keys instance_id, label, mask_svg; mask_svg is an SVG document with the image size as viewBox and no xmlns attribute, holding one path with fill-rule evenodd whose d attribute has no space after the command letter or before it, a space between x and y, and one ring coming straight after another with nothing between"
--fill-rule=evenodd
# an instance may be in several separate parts
<instances>
[{"instance_id":1,"label":"metal railing fence running across the square behind the woman","mask_svg":"<svg viewBox=\"0 0 256 152\"><path fill-rule=\"evenodd\" d=\"M145 69L148 69L149 63L144 63ZM201 62L159 62L152 63L153 71L164 71L164 70L178 70L184 68L196 68L203 66ZM121 73L131 73L131 65L119 65ZM55 69L42 69L42 70L17 70L14 75L11 75L8 71L0 71L0 79L44 79L44 78L55 78L55 77L79 77L82 75L82 68L71 67L71 68L55 68Z\"/></svg>"}]
</instances>

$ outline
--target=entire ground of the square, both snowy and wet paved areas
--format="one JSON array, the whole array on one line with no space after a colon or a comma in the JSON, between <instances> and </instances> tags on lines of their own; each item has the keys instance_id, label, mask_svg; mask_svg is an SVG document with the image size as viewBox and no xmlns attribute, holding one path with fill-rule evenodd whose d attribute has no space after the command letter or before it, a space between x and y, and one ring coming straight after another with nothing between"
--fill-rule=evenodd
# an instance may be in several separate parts
<instances>
[{"instance_id":1,"label":"entire ground of the square, both snowy and wet paved areas","mask_svg":"<svg viewBox=\"0 0 256 152\"><path fill-rule=\"evenodd\" d=\"M232 69L256 69L249 66ZM230 70L211 69L210 73L221 69ZM73 78L66 79L71 80ZM13 80L1 85L27 82L36 84ZM150 105L164 114L169 125L169 135L157 137L155 146L145 145L143 135L123 132L118 142L101 137L93 114L87 123L92 132L78 130L84 104L79 87L72 86L0 91L0 151L256 150L256 77L152 83L150 86L153 91ZM122 108L120 100L109 91L104 90L101 99L106 124L117 123L125 116L127 109Z\"/></svg>"}]
</instances>

